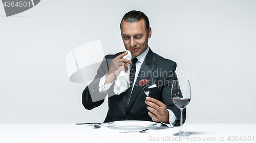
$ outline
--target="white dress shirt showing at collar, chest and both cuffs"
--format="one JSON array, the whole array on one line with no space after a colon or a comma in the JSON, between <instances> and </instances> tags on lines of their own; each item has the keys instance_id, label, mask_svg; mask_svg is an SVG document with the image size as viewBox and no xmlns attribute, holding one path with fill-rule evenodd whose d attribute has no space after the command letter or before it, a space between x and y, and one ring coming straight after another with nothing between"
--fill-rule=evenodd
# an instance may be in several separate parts
<instances>
[{"instance_id":1,"label":"white dress shirt showing at collar, chest and both cuffs","mask_svg":"<svg viewBox=\"0 0 256 143\"><path fill-rule=\"evenodd\" d=\"M140 55L138 55L138 56L136 57L136 58L138 59L138 61L136 62L136 72L135 72L134 81L137 80L137 77L138 77L138 75L139 75L139 71L140 71L141 65L142 65L142 63L144 62L144 60L145 60L145 58L146 58L146 54L147 54L147 52L148 52L149 50L150 50L150 48L147 47L147 49L146 49L143 53L141 53ZM132 56L132 59L133 59L133 58L134 58L134 56ZM130 67L130 68L131 68L131 67ZM130 70L130 69L129 69L129 70ZM108 84L105 84L105 85L104 85L104 83L105 83L105 75L104 75L103 77L101 77L100 82L99 82L99 92L100 92L100 93L107 93L107 92L109 91L111 85L113 84L113 81L112 81L111 83L108 83ZM134 82L134 84L135 84L135 82ZM133 89L132 89L132 91L133 91ZM173 127L173 124L172 124L172 123L175 122L176 117L175 117L175 115L174 115L174 113L173 113L172 110L167 109L167 111L169 112L169 124L165 124L165 123L163 123L163 124L165 124L165 125L168 126L168 127ZM152 118L152 120L154 121L153 118ZM162 122L161 122L161 123L162 123Z\"/></svg>"}]
</instances>

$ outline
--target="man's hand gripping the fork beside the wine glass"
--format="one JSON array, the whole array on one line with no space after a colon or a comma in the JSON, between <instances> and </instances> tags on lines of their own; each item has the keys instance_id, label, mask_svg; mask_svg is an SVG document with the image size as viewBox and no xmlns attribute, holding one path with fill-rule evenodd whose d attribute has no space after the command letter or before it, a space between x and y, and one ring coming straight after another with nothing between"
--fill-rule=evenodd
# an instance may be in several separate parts
<instances>
[{"instance_id":1,"label":"man's hand gripping the fork beside the wine glass","mask_svg":"<svg viewBox=\"0 0 256 143\"><path fill-rule=\"evenodd\" d=\"M148 105L148 115L156 122L169 123L169 112L166 110L166 105L159 100L151 97L146 97L145 103Z\"/></svg>"}]
</instances>

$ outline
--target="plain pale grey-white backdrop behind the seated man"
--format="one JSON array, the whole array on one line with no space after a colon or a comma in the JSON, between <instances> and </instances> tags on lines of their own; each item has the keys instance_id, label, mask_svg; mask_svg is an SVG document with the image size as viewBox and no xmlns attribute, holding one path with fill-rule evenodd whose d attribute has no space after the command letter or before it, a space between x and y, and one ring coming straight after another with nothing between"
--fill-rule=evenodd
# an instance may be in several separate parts
<instances>
[{"instance_id":1,"label":"plain pale grey-white backdrop behind the seated man","mask_svg":"<svg viewBox=\"0 0 256 143\"><path fill-rule=\"evenodd\" d=\"M256 123L256 1L248 0L42 0L11 17L0 6L0 123L102 122L107 105L83 108L86 83L69 81L65 57L96 40L104 54L124 51L119 24L130 10L148 16L149 46L190 80L186 123Z\"/></svg>"}]
</instances>

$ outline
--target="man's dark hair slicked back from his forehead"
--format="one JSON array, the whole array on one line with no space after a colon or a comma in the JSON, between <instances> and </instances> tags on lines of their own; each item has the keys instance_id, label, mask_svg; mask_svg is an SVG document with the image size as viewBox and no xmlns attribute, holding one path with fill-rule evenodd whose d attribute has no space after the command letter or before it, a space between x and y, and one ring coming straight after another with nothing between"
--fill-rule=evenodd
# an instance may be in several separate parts
<instances>
[{"instance_id":1,"label":"man's dark hair slicked back from his forehead","mask_svg":"<svg viewBox=\"0 0 256 143\"><path fill-rule=\"evenodd\" d=\"M123 20L125 20L126 22L129 22L129 23L135 23L135 22L139 21L140 19L144 19L146 33L148 34L150 31L150 20L148 20L148 17L141 11L132 10L132 11L127 12L121 20L120 28L121 28L121 24L122 24Z\"/></svg>"}]
</instances>

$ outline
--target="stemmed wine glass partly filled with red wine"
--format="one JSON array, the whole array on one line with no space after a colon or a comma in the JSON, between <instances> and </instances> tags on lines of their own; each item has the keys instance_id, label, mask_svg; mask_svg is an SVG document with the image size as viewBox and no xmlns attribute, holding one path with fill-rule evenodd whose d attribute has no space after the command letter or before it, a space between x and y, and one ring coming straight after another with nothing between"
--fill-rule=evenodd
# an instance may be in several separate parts
<instances>
[{"instance_id":1,"label":"stemmed wine glass partly filled with red wine","mask_svg":"<svg viewBox=\"0 0 256 143\"><path fill-rule=\"evenodd\" d=\"M174 136L189 136L189 133L184 133L182 130L182 111L191 99L191 89L188 80L173 80L172 84L172 100L174 104L180 109L180 126L181 129L178 133L173 134Z\"/></svg>"}]
</instances>

